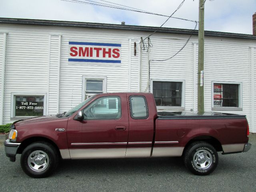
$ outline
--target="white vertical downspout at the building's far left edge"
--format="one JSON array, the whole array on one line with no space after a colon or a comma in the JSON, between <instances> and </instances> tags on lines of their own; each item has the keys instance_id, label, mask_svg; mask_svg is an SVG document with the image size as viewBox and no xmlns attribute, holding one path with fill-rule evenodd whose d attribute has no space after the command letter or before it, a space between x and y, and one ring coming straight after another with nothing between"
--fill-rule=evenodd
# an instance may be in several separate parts
<instances>
[{"instance_id":1,"label":"white vertical downspout at the building's far left edge","mask_svg":"<svg viewBox=\"0 0 256 192\"><path fill-rule=\"evenodd\" d=\"M2 57L2 79L1 79L1 109L0 109L0 124L4 124L4 99L5 99L5 78L6 78L6 47L7 33L4 33L3 38L3 57Z\"/></svg>"}]
</instances>

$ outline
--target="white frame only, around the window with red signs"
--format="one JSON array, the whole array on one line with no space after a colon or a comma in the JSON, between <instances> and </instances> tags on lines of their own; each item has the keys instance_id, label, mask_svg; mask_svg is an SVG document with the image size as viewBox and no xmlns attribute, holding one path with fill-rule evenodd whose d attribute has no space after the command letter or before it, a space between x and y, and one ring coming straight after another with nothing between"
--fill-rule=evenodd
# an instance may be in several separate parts
<instances>
[{"instance_id":1,"label":"white frame only, around the window with red signs","mask_svg":"<svg viewBox=\"0 0 256 192\"><path fill-rule=\"evenodd\" d=\"M214 84L236 84L238 85L238 107L216 107L214 106ZM213 111L242 111L242 82L212 81L212 110Z\"/></svg>"}]
</instances>

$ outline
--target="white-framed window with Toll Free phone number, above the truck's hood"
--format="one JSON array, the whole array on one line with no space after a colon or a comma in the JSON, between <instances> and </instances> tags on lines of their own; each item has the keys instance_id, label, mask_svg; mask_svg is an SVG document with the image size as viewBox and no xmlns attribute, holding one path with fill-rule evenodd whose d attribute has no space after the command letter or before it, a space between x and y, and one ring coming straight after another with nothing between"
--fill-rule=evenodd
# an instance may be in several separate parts
<instances>
[{"instance_id":1,"label":"white-framed window with Toll Free phone number, above the truck's hood","mask_svg":"<svg viewBox=\"0 0 256 192\"><path fill-rule=\"evenodd\" d=\"M12 93L11 118L46 115L46 94Z\"/></svg>"}]
</instances>

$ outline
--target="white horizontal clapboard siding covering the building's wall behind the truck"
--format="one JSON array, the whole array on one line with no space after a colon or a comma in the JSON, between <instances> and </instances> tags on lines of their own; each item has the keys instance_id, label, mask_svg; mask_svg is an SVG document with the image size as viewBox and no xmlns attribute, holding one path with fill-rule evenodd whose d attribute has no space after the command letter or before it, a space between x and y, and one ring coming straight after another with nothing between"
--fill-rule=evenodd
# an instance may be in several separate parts
<instances>
[{"instance_id":1,"label":"white horizontal clapboard siding covering the building's wall behind the truck","mask_svg":"<svg viewBox=\"0 0 256 192\"><path fill-rule=\"evenodd\" d=\"M0 32L3 31L8 32L5 123L13 122L13 120L10 120L12 92L47 93L47 113L54 114L58 112L58 108L59 112L64 112L82 101L82 76L106 77L107 92L127 92L128 90L138 92L139 90L139 42L140 37L145 38L150 33L1 25ZM186 35L178 34L156 33L150 36L153 47L150 48L149 53L146 50L142 51L141 92L150 91L150 88L147 89L149 54L149 83L151 79L184 80L185 110L196 110L198 83L197 37L192 37L185 48L174 58L164 62L153 61L166 59L176 54L187 38ZM68 63L69 39L121 42L121 66L70 65ZM136 56L134 56L134 42L136 42ZM2 34L0 34L0 62L2 61L2 43ZM212 81L242 82L242 111L220 112L246 114L250 123L250 130L256 132L256 121L252 121L256 118L256 113L252 113L252 105L256 109L256 83L252 83L256 82L256 48L250 52L250 46L255 47L255 41L205 38L204 101L205 110L211 111ZM250 71L252 66L254 66L254 70ZM59 69L60 76L58 76ZM0 74L1 70L2 67L0 67ZM130 87L128 83L129 76ZM58 86L58 83L60 86ZM252 84L254 89L250 87ZM0 89L2 88L0 87Z\"/></svg>"}]
</instances>

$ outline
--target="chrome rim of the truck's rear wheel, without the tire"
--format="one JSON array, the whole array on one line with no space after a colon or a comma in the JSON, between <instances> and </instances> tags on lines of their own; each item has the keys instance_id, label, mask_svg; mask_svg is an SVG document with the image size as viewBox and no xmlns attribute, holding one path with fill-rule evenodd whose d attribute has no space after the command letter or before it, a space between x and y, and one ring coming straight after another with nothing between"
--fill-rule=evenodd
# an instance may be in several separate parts
<instances>
[{"instance_id":1,"label":"chrome rim of the truck's rear wheel, without the tire","mask_svg":"<svg viewBox=\"0 0 256 192\"><path fill-rule=\"evenodd\" d=\"M208 150L198 150L194 154L193 163L198 169L207 169L212 164L212 154Z\"/></svg>"}]
</instances>

